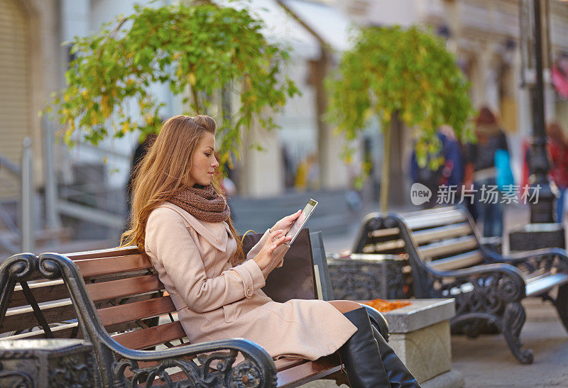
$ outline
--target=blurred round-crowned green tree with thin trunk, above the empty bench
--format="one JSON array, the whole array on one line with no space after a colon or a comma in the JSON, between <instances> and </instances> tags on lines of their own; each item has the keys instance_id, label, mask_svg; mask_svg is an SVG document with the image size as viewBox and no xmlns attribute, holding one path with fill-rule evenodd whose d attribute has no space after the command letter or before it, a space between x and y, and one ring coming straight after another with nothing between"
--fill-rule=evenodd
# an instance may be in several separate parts
<instances>
[{"instance_id":1,"label":"blurred round-crowned green tree with thin trunk, above the empty bench","mask_svg":"<svg viewBox=\"0 0 568 388\"><path fill-rule=\"evenodd\" d=\"M443 162L435 155L440 144L436 131L447 124L461 140L471 139L469 119L474 109L469 83L444 41L417 27L364 28L354 46L342 54L337 71L327 79L330 101L327 119L351 143L369 125L381 123L383 164L381 211L388 206L391 121L400 119L419 132L417 162L437 169ZM346 150L349 161L354 149ZM430 162L428 162L430 160ZM362 165L366 177L370 164Z\"/></svg>"}]
</instances>

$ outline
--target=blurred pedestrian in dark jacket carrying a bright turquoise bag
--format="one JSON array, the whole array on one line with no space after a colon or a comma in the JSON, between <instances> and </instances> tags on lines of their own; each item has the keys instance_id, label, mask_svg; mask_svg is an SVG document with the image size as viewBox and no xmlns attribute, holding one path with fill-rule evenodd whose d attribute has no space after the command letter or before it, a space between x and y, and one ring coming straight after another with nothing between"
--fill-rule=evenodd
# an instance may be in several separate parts
<instances>
[{"instance_id":1,"label":"blurred pedestrian in dark jacket carrying a bright turquoise bag","mask_svg":"<svg viewBox=\"0 0 568 388\"><path fill-rule=\"evenodd\" d=\"M491 109L484 106L475 119L475 135L477 143L467 147L467 165L465 172L465 186L474 184L476 193L476 209L479 219L483 221L484 237L493 237L503 234L503 204L498 192L498 177L496 160L505 160L507 164L509 148L507 136L499 126L496 116ZM503 150L504 153L498 153ZM506 155L505 158L496 155ZM510 172L510 165L499 166L500 170Z\"/></svg>"}]
</instances>

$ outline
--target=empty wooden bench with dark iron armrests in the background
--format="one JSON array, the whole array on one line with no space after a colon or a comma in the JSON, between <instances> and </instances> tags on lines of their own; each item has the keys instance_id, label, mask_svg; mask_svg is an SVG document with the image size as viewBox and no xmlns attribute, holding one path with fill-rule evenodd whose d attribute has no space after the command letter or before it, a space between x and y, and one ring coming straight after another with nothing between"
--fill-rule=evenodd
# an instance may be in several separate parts
<instances>
[{"instance_id":1,"label":"empty wooden bench with dark iron armrests in the background","mask_svg":"<svg viewBox=\"0 0 568 388\"><path fill-rule=\"evenodd\" d=\"M522 349L519 338L525 323L520 301L526 296L552 301L568 330L566 251L496 253L480 243L475 223L462 206L369 214L354 252L407 255L415 297L455 298L452 331L471 337L501 332L522 363L532 362L532 352Z\"/></svg>"}]
</instances>

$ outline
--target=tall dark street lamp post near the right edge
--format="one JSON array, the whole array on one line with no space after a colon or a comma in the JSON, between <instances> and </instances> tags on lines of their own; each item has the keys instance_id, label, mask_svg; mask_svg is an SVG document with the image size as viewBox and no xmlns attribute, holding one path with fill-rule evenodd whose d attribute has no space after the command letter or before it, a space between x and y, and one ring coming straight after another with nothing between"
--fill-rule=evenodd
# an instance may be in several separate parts
<instances>
[{"instance_id":1,"label":"tall dark street lamp post near the right edge","mask_svg":"<svg viewBox=\"0 0 568 388\"><path fill-rule=\"evenodd\" d=\"M550 168L547 156L545 131L545 96L543 59L550 64L548 55L549 18L548 0L520 0L521 79L528 87L532 108L532 145L529 153L531 187L538 189L538 201L530 203L530 223L553 223L555 192L548 180ZM543 5L544 7L541 7ZM542 12L544 8L544 12ZM544 13L545 18L542 18ZM542 32L545 31L543 37ZM543 58L544 48L547 55ZM556 191L556 188L554 188Z\"/></svg>"}]
</instances>

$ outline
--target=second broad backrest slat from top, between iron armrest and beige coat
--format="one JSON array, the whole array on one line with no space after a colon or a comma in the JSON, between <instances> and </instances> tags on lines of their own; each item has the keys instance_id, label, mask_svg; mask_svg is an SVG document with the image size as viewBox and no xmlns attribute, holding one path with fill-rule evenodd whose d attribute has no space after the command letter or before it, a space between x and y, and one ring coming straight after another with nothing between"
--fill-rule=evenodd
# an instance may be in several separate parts
<instances>
[{"instance_id":1,"label":"second broad backrest slat from top, between iron armrest and beige coat","mask_svg":"<svg viewBox=\"0 0 568 388\"><path fill-rule=\"evenodd\" d=\"M155 274L87 284L87 290L93 301L124 298L125 296L160 291L163 288L162 282Z\"/></svg>"}]
</instances>

